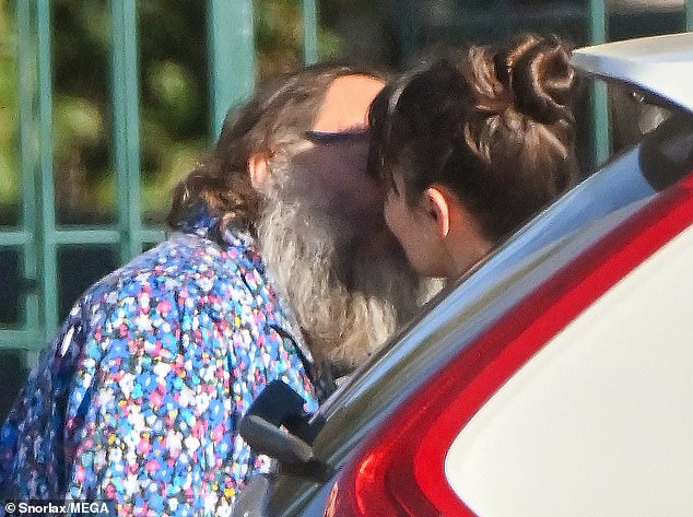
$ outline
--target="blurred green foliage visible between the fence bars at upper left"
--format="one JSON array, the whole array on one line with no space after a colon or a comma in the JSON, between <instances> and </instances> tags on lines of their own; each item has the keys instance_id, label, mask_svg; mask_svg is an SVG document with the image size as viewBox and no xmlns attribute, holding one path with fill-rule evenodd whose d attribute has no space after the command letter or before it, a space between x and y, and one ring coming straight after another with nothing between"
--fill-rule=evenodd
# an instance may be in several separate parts
<instances>
[{"instance_id":1,"label":"blurred green foliage visible between the fence bars at upper left","mask_svg":"<svg viewBox=\"0 0 693 517\"><path fill-rule=\"evenodd\" d=\"M0 0L0 224L20 218L16 2ZM231 1L231 0L230 0ZM142 210L161 222L168 192L209 145L207 2L138 0ZM51 0L54 172L61 224L116 218L110 101L110 7ZM255 1L258 80L295 69L303 55L301 0ZM340 39L321 30L320 54Z\"/></svg>"}]
</instances>

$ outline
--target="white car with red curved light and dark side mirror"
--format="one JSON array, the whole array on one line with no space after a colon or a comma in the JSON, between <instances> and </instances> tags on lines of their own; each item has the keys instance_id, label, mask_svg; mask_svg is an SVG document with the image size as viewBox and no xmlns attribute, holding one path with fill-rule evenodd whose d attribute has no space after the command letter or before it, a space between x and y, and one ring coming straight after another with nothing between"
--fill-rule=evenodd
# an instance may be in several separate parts
<instances>
[{"instance_id":1,"label":"white car with red curved light and dark side mirror","mask_svg":"<svg viewBox=\"0 0 693 517\"><path fill-rule=\"evenodd\" d=\"M244 436L281 468L236 515L693 516L693 33L573 62L670 116L434 299L307 432L250 414Z\"/></svg>"}]
</instances>

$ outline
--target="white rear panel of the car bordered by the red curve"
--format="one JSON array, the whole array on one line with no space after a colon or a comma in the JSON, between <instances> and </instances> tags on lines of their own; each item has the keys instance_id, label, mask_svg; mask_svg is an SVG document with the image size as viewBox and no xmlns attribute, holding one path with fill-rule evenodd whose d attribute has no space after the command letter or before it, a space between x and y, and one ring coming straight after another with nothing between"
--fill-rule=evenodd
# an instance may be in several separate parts
<instances>
[{"instance_id":1,"label":"white rear panel of the car bordered by the red curve","mask_svg":"<svg viewBox=\"0 0 693 517\"><path fill-rule=\"evenodd\" d=\"M693 515L691 263L689 227L475 413L445 461L475 514Z\"/></svg>"}]
</instances>

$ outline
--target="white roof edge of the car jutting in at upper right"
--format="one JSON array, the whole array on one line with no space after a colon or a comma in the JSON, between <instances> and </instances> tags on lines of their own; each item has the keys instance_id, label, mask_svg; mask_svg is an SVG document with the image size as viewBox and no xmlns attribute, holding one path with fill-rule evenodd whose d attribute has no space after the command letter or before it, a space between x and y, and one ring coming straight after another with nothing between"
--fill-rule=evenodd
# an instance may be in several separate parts
<instances>
[{"instance_id":1,"label":"white roof edge of the car jutting in at upper right","mask_svg":"<svg viewBox=\"0 0 693 517\"><path fill-rule=\"evenodd\" d=\"M693 113L693 33L606 43L575 50L575 68L636 86Z\"/></svg>"}]
</instances>

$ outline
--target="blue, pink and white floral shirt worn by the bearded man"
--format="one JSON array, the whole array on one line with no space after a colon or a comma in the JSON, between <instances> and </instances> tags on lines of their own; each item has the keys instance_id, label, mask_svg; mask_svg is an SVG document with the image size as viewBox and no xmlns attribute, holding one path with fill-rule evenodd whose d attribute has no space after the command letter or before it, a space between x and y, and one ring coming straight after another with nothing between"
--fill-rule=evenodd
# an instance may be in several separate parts
<instances>
[{"instance_id":1,"label":"blue, pink and white floral shirt worn by the bearded man","mask_svg":"<svg viewBox=\"0 0 693 517\"><path fill-rule=\"evenodd\" d=\"M228 515L267 467L236 433L267 383L315 411L303 346L251 237L202 216L93 285L0 431L0 500Z\"/></svg>"}]
</instances>

